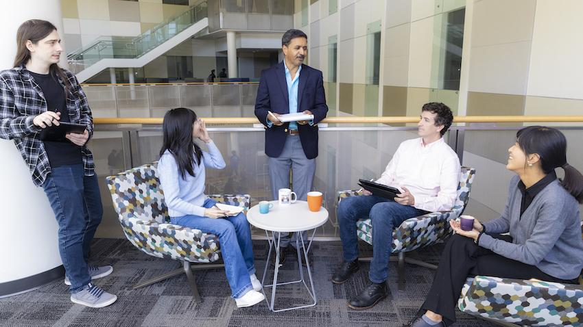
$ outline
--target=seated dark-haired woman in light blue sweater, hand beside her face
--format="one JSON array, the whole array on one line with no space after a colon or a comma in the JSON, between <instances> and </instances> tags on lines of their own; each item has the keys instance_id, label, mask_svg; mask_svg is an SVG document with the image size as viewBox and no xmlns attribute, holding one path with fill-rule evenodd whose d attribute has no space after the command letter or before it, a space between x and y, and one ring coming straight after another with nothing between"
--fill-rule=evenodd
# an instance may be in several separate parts
<instances>
[{"instance_id":1,"label":"seated dark-haired woman in light blue sweater, hand beside her face","mask_svg":"<svg viewBox=\"0 0 583 327\"><path fill-rule=\"evenodd\" d=\"M261 302L265 296L255 276L251 231L245 214L229 217L204 194L205 168L225 168L204 122L191 109L171 109L164 116L163 134L158 174L172 224L217 235L237 306ZM209 152L202 151L195 139L204 142Z\"/></svg>"}]
</instances>

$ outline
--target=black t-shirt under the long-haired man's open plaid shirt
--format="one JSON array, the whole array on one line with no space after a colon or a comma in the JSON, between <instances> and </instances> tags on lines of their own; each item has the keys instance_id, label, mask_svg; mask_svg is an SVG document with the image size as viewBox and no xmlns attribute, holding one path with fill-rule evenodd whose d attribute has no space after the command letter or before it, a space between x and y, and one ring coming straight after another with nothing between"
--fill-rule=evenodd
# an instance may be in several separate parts
<instances>
[{"instance_id":1,"label":"black t-shirt under the long-haired man's open plaid shirt","mask_svg":"<svg viewBox=\"0 0 583 327\"><path fill-rule=\"evenodd\" d=\"M51 112L60 112L60 121L71 122L67 110L67 103L65 102L64 89L57 77L50 74L36 74L31 71L29 73L38 86L40 86L40 90L43 90L45 100L47 101L47 109ZM47 151L51 168L82 164L81 147L73 144L71 141L43 141L43 143L45 144L45 151Z\"/></svg>"}]
</instances>

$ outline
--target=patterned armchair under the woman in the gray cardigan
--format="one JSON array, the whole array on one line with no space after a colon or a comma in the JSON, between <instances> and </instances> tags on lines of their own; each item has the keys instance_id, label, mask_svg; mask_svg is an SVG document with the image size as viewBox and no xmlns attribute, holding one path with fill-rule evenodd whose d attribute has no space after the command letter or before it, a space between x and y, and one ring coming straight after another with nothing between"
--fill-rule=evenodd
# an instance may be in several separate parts
<instances>
[{"instance_id":1,"label":"patterned armchair under the woman in the gray cardigan","mask_svg":"<svg viewBox=\"0 0 583 327\"><path fill-rule=\"evenodd\" d=\"M583 231L582 231L583 234ZM528 326L583 326L583 272L580 285L476 276L468 278L460 311Z\"/></svg>"}]
</instances>

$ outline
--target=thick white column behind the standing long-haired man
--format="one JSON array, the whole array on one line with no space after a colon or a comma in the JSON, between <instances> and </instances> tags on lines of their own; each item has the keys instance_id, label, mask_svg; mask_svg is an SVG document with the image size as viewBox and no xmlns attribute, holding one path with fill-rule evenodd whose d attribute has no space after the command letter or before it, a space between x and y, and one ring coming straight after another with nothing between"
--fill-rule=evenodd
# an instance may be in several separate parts
<instances>
[{"instance_id":1,"label":"thick white column behind the standing long-haired man","mask_svg":"<svg viewBox=\"0 0 583 327\"><path fill-rule=\"evenodd\" d=\"M63 38L60 0L2 1L0 29L4 40L0 69L12 68L16 30L32 18L53 23ZM63 47L64 47L63 42ZM63 51L61 66L67 67ZM32 183L25 161L12 140L0 140L0 290L14 280L47 272L62 265L57 243L58 225L41 187ZM23 291L23 290L22 290Z\"/></svg>"}]
</instances>

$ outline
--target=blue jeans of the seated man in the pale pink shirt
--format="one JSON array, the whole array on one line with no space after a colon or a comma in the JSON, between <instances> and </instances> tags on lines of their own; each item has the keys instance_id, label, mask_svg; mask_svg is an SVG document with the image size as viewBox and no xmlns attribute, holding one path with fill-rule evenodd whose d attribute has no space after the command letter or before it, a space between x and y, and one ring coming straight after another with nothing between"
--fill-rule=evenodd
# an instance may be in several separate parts
<instances>
[{"instance_id":1,"label":"blue jeans of the seated man in the pale pink shirt","mask_svg":"<svg viewBox=\"0 0 583 327\"><path fill-rule=\"evenodd\" d=\"M369 217L372 222L372 261L368 278L372 283L383 283L388 278L389 257L392 252L393 228L408 218L427 213L409 205L380 196L350 196L338 205L338 224L345 261L358 259L356 222Z\"/></svg>"}]
</instances>

